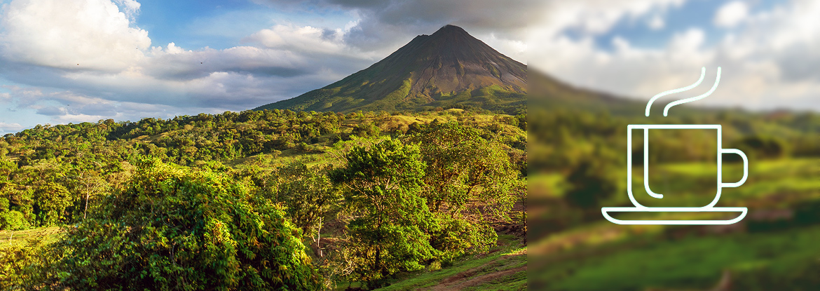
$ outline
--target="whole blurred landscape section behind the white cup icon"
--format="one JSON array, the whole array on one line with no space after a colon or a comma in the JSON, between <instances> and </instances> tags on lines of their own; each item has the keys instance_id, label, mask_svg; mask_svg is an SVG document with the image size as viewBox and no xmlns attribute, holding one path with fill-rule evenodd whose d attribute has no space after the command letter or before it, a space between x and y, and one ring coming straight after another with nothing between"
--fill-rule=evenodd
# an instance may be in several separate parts
<instances>
[{"instance_id":1,"label":"whole blurred landscape section behind the white cup icon","mask_svg":"<svg viewBox=\"0 0 820 291\"><path fill-rule=\"evenodd\" d=\"M820 2L553 1L528 45L528 279L534 290L820 289ZM669 102L717 89L702 100ZM695 89L649 98L704 81ZM717 207L748 207L733 225L615 225L601 207L697 207L717 192L722 148L749 157L749 176ZM626 152L633 153L630 162ZM723 182L743 175L722 156ZM731 213L709 214L725 220ZM628 217L628 216L625 216ZM704 219L652 213L642 218ZM617 217L622 218L622 217Z\"/></svg>"}]
</instances>

